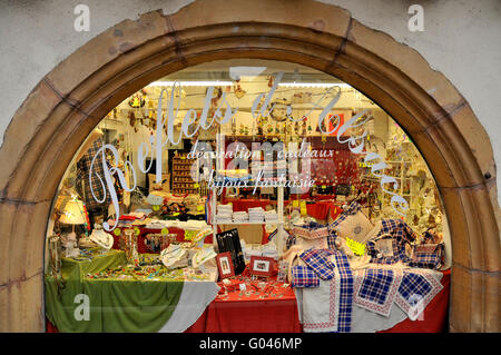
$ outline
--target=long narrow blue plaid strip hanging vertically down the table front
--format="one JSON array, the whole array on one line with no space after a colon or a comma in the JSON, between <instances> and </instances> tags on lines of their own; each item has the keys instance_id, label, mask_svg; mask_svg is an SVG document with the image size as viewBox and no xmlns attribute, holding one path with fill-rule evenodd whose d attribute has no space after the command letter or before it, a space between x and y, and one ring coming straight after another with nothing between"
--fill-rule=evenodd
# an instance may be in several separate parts
<instances>
[{"instance_id":1,"label":"long narrow blue plaid strip hanging vertically down the table front","mask_svg":"<svg viewBox=\"0 0 501 355\"><path fill-rule=\"evenodd\" d=\"M350 333L352 329L353 310L353 273L346 255L341 252L335 252L334 258L337 267L336 270L341 277L337 332Z\"/></svg>"}]
</instances>

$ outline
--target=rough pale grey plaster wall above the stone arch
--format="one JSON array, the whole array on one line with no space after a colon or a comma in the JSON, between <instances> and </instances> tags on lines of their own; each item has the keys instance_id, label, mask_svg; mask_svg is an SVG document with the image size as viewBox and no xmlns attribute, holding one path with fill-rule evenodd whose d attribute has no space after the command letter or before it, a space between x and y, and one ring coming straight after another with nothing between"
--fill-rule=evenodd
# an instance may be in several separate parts
<instances>
[{"instance_id":1,"label":"rough pale grey plaster wall above the stone arch","mask_svg":"<svg viewBox=\"0 0 501 355\"><path fill-rule=\"evenodd\" d=\"M272 1L272 0L271 0ZM281 0L277 0L281 1ZM287 0L282 0L287 1ZM18 107L58 62L110 26L139 13L176 12L189 0L0 0L0 144ZM416 49L466 98L489 132L501 165L501 1L322 0L351 11L362 23ZM90 31L73 30L73 8L90 8ZM407 9L424 8L424 31L410 32ZM501 174L498 169L498 186ZM501 196L498 197L501 201Z\"/></svg>"}]
</instances>

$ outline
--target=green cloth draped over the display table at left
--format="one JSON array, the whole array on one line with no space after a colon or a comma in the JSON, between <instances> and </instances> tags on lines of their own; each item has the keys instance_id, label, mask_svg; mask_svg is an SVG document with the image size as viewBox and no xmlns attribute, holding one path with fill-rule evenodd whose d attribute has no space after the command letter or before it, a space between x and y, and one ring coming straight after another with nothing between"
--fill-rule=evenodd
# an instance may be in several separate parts
<instances>
[{"instance_id":1,"label":"green cloth draped over the display table at left","mask_svg":"<svg viewBox=\"0 0 501 355\"><path fill-rule=\"evenodd\" d=\"M46 315L60 332L157 332L170 318L183 292L183 282L89 279L87 273L126 265L122 252L111 250L91 262L63 258L62 277L66 282L61 297L57 284L47 275ZM82 302L79 294L88 296L89 321L77 321Z\"/></svg>"}]
</instances>

